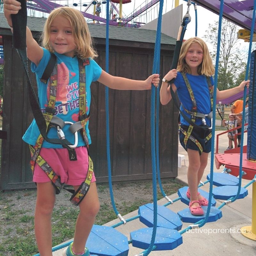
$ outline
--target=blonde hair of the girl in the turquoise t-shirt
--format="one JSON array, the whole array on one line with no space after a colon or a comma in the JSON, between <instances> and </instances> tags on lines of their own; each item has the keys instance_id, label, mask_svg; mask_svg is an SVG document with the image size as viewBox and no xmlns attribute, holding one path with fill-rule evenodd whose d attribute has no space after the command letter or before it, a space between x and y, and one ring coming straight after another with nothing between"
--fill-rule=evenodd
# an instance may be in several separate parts
<instances>
[{"instance_id":1,"label":"blonde hair of the girl in the turquoise t-shirt","mask_svg":"<svg viewBox=\"0 0 256 256\"><path fill-rule=\"evenodd\" d=\"M74 36L74 41L76 45L75 54L81 59L89 57L93 59L94 57L97 57L98 54L93 49L92 38L84 16L78 10L68 6L56 8L50 13L44 24L44 31L41 36L43 47L50 52L53 52L53 49L49 42L51 34L50 28L52 21L58 15L61 15L68 19L71 24L72 34Z\"/></svg>"}]
</instances>

